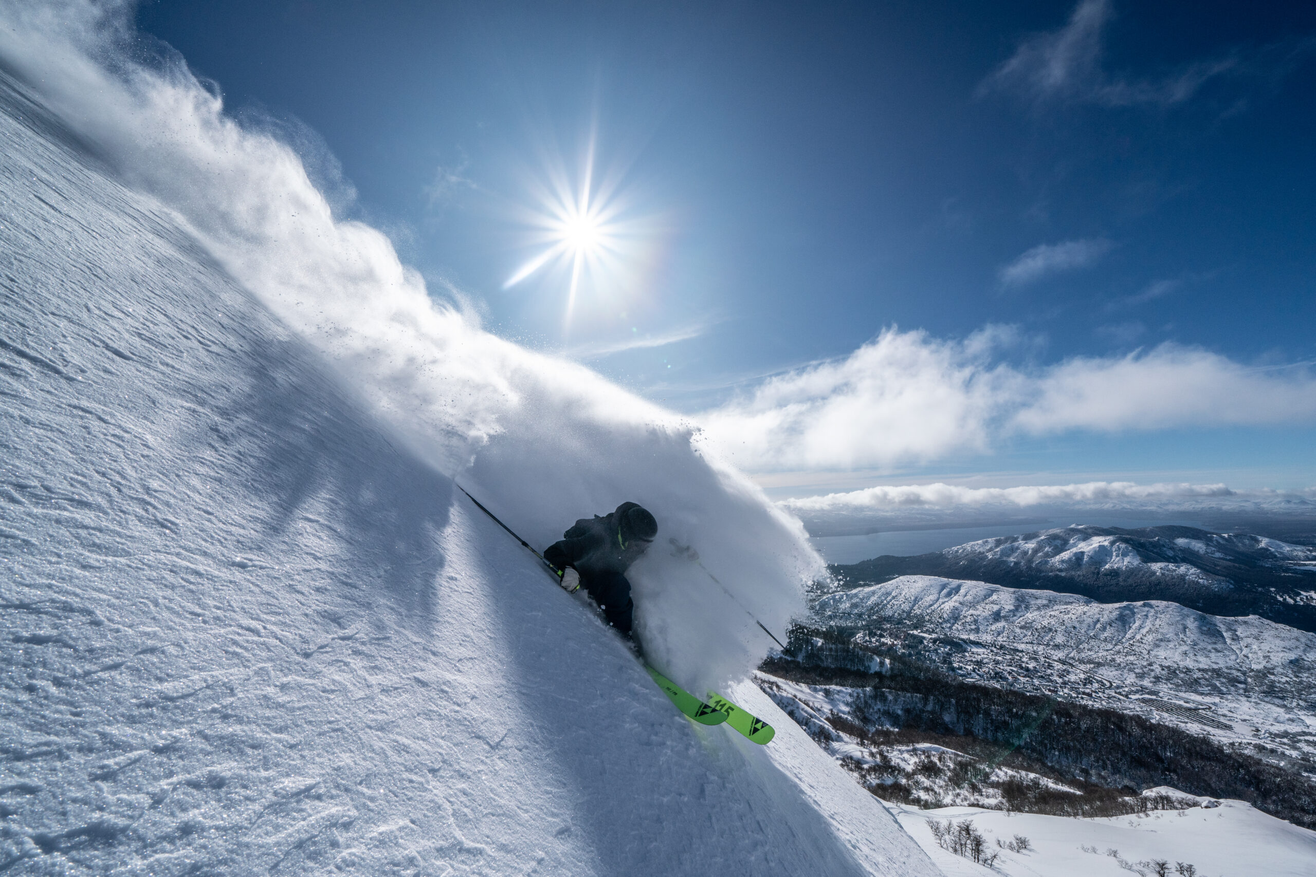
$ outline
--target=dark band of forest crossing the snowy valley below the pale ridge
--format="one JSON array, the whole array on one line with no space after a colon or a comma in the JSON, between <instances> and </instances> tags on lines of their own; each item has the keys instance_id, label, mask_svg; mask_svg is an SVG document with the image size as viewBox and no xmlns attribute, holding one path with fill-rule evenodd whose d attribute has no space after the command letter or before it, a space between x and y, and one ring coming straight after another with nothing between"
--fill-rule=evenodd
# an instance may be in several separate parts
<instances>
[{"instance_id":1,"label":"dark band of forest crossing the snowy valley below the pale ridge","mask_svg":"<svg viewBox=\"0 0 1316 877\"><path fill-rule=\"evenodd\" d=\"M1119 798L1167 785L1194 795L1246 801L1316 830L1316 784L1300 770L1138 715L967 682L896 650L859 647L854 632L797 626L786 652L766 660L762 669L797 682L857 689L850 710L857 727L846 732L859 731L874 746L891 739L890 728L976 740L987 744L988 760L1024 757L1091 789L1083 806L1094 810L1116 809ZM820 643L829 648L819 648ZM853 669L874 667L874 656L882 672ZM1074 795L1045 789L1001 792L1020 810L1079 806Z\"/></svg>"}]
</instances>

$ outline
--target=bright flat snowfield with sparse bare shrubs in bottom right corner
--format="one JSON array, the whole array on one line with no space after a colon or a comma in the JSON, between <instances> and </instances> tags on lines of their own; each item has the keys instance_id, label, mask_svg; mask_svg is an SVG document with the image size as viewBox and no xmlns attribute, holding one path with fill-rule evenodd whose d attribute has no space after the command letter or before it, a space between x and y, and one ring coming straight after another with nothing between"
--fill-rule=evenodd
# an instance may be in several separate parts
<instances>
[{"instance_id":1,"label":"bright flat snowfield with sparse bare shrubs in bottom right corner","mask_svg":"<svg viewBox=\"0 0 1316 877\"><path fill-rule=\"evenodd\" d=\"M1169 788L1144 794L1158 792L1183 795ZM1316 832L1266 815L1244 801L1219 805L1109 819L888 806L948 877L1148 877L1154 872L1145 863L1157 859L1170 863L1171 874L1178 863L1184 863L1202 877L1309 877L1316 863ZM928 826L933 819L971 819L987 839L988 851L999 853L995 866L975 865L940 848ZM1028 838L1032 848L1015 852L996 845L996 840L1008 843L1015 835Z\"/></svg>"}]
</instances>

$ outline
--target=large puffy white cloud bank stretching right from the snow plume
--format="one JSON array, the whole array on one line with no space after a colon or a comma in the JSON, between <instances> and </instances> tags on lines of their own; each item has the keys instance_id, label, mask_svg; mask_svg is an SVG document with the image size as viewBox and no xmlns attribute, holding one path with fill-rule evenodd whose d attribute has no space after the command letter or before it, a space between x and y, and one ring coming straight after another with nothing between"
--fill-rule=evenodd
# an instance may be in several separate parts
<instances>
[{"instance_id":1,"label":"large puffy white cloud bank stretching right from the snow plume","mask_svg":"<svg viewBox=\"0 0 1316 877\"><path fill-rule=\"evenodd\" d=\"M705 440L742 468L850 469L986 452L1013 435L1067 430L1316 421L1316 376L1249 368L1195 347L995 362L1000 327L965 341L883 331L845 359L770 377L699 415Z\"/></svg>"}]
</instances>

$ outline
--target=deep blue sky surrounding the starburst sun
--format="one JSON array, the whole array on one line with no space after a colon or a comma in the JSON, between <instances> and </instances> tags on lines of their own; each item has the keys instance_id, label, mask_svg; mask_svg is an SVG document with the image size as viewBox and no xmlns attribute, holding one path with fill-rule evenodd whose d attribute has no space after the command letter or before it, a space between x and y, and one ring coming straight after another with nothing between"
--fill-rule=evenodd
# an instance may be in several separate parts
<instances>
[{"instance_id":1,"label":"deep blue sky surrounding the starburst sun","mask_svg":"<svg viewBox=\"0 0 1316 877\"><path fill-rule=\"evenodd\" d=\"M1316 484L1316 8L161 1L138 25L432 289L719 412L782 489ZM587 164L615 255L569 313L569 266L507 283ZM778 454L788 406L884 419Z\"/></svg>"}]
</instances>

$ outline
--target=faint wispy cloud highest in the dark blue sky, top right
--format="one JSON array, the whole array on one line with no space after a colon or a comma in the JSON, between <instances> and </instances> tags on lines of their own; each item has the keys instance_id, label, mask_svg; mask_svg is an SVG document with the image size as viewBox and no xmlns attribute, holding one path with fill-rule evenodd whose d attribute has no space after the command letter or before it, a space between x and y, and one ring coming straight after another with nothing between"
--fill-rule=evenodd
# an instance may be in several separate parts
<instances>
[{"instance_id":1,"label":"faint wispy cloud highest in the dark blue sky, top right","mask_svg":"<svg viewBox=\"0 0 1316 877\"><path fill-rule=\"evenodd\" d=\"M1083 0L1063 28L1020 42L1009 60L979 85L979 93L1012 93L1037 103L1169 107L1241 66L1238 57L1229 54L1190 63L1161 79L1111 75L1101 66L1101 55L1103 32L1112 17L1109 0Z\"/></svg>"}]
</instances>

